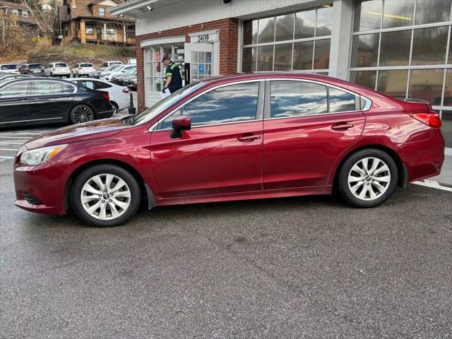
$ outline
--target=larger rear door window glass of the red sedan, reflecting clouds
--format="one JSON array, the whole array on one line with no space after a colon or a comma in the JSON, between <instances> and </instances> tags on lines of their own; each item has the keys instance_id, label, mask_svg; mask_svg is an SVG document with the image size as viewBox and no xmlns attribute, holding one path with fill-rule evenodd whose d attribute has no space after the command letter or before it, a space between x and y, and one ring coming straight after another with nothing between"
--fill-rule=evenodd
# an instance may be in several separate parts
<instances>
[{"instance_id":1,"label":"larger rear door window glass of the red sedan, reflecting clouds","mask_svg":"<svg viewBox=\"0 0 452 339\"><path fill-rule=\"evenodd\" d=\"M326 86L303 81L272 81L270 117L302 117L328 112Z\"/></svg>"}]
</instances>

